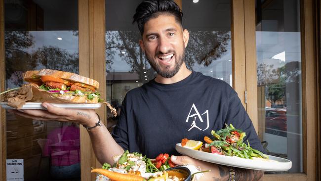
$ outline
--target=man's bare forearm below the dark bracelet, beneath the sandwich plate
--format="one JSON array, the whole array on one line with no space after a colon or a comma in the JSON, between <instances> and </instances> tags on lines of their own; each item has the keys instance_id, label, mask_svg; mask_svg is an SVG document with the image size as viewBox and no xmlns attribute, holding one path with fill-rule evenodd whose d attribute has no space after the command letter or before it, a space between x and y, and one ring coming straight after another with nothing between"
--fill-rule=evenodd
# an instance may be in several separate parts
<instances>
[{"instance_id":1,"label":"man's bare forearm below the dark bracelet, beneath the sandwich plate","mask_svg":"<svg viewBox=\"0 0 321 181\"><path fill-rule=\"evenodd\" d=\"M94 153L101 164L105 162L113 164L114 161L112 157L124 152L104 125L96 127L93 131L88 131L88 133L91 138Z\"/></svg>"}]
</instances>

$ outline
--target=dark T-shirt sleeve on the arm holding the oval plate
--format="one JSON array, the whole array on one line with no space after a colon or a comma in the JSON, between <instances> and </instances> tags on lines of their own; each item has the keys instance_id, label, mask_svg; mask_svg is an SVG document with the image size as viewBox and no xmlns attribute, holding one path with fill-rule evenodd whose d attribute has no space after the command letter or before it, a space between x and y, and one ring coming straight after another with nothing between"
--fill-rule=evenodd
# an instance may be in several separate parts
<instances>
[{"instance_id":1,"label":"dark T-shirt sleeve on the arm holding the oval plate","mask_svg":"<svg viewBox=\"0 0 321 181\"><path fill-rule=\"evenodd\" d=\"M232 88L230 88L228 100L228 113L225 123L228 125L232 124L236 129L240 129L241 131L245 132L246 136L244 137L244 142L247 143L246 140L248 140L252 148L265 153L261 141L255 132L251 119L247 115L238 94Z\"/></svg>"}]
</instances>

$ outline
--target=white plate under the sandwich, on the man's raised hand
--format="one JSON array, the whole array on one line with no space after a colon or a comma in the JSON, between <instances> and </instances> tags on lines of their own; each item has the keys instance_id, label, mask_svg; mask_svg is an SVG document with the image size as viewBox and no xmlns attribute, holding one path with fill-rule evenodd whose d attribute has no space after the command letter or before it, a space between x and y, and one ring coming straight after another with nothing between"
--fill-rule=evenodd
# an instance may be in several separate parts
<instances>
[{"instance_id":1,"label":"white plate under the sandwich, on the man's raised hand","mask_svg":"<svg viewBox=\"0 0 321 181\"><path fill-rule=\"evenodd\" d=\"M101 103L51 103L56 107L66 108L66 109L98 109L101 107ZM15 109L13 107L8 106L7 102L0 102L0 106L3 109ZM20 109L45 109L41 106L41 102L26 102Z\"/></svg>"}]
</instances>

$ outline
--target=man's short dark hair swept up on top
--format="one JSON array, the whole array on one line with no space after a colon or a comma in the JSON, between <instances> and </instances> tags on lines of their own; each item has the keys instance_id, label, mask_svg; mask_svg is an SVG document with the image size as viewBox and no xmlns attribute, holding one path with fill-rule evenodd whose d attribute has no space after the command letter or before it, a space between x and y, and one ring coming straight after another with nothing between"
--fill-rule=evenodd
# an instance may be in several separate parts
<instances>
[{"instance_id":1,"label":"man's short dark hair swept up on top","mask_svg":"<svg viewBox=\"0 0 321 181\"><path fill-rule=\"evenodd\" d=\"M173 0L144 0L136 8L133 23L137 22L140 34L143 35L145 23L161 14L173 15L176 22L182 25L183 12Z\"/></svg>"}]
</instances>

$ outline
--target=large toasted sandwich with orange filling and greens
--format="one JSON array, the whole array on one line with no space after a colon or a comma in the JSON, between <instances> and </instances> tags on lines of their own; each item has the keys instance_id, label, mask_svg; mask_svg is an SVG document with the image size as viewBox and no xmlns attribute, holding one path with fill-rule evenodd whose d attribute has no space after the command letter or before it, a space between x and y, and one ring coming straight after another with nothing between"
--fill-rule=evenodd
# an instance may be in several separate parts
<instances>
[{"instance_id":1,"label":"large toasted sandwich with orange filling and greens","mask_svg":"<svg viewBox=\"0 0 321 181\"><path fill-rule=\"evenodd\" d=\"M25 72L23 79L35 85L40 91L46 91L61 101L71 103L103 101L97 91L99 83L75 73L42 69Z\"/></svg>"}]
</instances>

